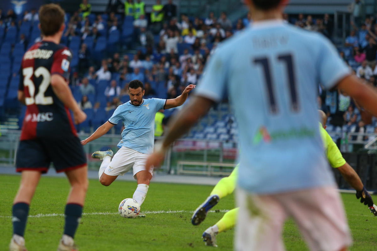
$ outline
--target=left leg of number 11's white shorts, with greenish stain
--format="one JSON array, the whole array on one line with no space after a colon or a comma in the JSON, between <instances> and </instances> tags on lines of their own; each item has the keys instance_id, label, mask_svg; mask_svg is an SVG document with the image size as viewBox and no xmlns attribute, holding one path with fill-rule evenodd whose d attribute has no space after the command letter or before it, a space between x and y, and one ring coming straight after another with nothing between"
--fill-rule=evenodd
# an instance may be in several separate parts
<instances>
[{"instance_id":1,"label":"left leg of number 11's white shorts, with greenish stain","mask_svg":"<svg viewBox=\"0 0 377 251\"><path fill-rule=\"evenodd\" d=\"M239 214L234 246L236 251L284 251L282 228L287 217L273 196L251 195L237 189Z\"/></svg>"}]
</instances>

